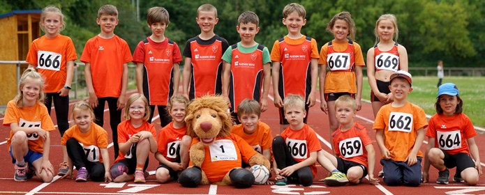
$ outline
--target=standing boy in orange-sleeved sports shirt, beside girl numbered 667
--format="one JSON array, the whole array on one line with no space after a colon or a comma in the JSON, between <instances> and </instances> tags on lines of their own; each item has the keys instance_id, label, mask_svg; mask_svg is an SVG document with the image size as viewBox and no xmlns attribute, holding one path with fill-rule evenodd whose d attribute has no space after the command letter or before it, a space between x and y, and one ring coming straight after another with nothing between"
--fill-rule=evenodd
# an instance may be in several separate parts
<instances>
[{"instance_id":1,"label":"standing boy in orange-sleeved sports shirt, beside girl numbered 667","mask_svg":"<svg viewBox=\"0 0 485 195\"><path fill-rule=\"evenodd\" d=\"M316 40L301 34L301 27L306 24L305 17L304 6L298 3L286 5L283 9L283 24L288 28L288 35L276 40L271 50L274 105L280 109L280 133L290 124L283 111L283 101L289 93L304 97L307 113L304 123L308 118L309 107L315 105L320 56Z\"/></svg>"}]
</instances>

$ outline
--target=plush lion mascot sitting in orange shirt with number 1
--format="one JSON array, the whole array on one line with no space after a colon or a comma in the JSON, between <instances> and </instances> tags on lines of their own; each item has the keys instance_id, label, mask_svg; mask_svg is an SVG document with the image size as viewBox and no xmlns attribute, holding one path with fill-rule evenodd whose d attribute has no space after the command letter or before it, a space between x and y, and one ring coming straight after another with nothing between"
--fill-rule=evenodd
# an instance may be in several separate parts
<instances>
[{"instance_id":1,"label":"plush lion mascot sitting in orange shirt with number 1","mask_svg":"<svg viewBox=\"0 0 485 195\"><path fill-rule=\"evenodd\" d=\"M232 134L232 118L222 96L207 95L195 99L187 108L187 134L193 137L188 169L181 172L179 183L184 187L197 185L234 185L251 187L254 176L241 169L244 161L250 166L260 164L270 170L269 161Z\"/></svg>"}]
</instances>

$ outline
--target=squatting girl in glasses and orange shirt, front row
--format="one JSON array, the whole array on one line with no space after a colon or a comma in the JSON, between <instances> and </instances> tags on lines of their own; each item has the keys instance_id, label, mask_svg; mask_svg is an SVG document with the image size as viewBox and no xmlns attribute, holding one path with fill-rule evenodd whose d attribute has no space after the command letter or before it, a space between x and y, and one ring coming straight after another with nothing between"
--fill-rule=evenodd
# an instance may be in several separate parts
<instances>
[{"instance_id":1,"label":"squatting girl in glasses and orange shirt, front row","mask_svg":"<svg viewBox=\"0 0 485 195\"><path fill-rule=\"evenodd\" d=\"M157 150L155 127L147 122L150 116L147 98L140 93L130 95L124 116L126 120L118 125L119 155L111 166L111 176L114 182L135 179L144 183L148 176L145 171L148 155Z\"/></svg>"}]
</instances>

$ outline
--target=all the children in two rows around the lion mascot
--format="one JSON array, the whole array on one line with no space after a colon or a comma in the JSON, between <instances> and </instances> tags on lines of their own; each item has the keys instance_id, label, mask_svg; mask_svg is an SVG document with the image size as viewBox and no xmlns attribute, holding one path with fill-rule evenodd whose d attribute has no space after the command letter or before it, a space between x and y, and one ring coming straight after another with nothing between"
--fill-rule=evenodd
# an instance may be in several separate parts
<instances>
[{"instance_id":1,"label":"all the children in two rows around the lion mascot","mask_svg":"<svg viewBox=\"0 0 485 195\"><path fill-rule=\"evenodd\" d=\"M45 36L32 42L27 56L29 69L20 79L19 93L8 102L3 120L11 130L8 148L15 164L14 180L26 181L34 175L44 182L53 178L49 161L49 135L54 130L49 116L52 100L64 152L58 175L73 178L75 167L76 181L145 182L149 153L154 153L160 163L157 181L177 180L179 172L188 166L192 143L184 122L189 100L219 94L230 106L235 122L232 132L272 162L276 185L290 181L311 185L317 174L315 162L331 172L324 179L329 186L358 184L367 175L371 185L377 185L373 144L366 128L353 119L361 109L361 69L365 65L360 46L352 40L355 23L350 13L336 14L327 26L334 40L327 42L319 55L316 41L301 34L305 17L303 6L285 6L283 24L288 36L276 40L270 54L267 47L254 41L259 31L258 15L246 11L239 16L236 29L241 42L229 45L214 33L216 8L210 4L200 6L196 22L201 33L186 42L182 95L178 95L182 59L177 43L164 36L170 24L167 10L148 10L152 35L137 45L132 58L126 42L114 35L119 22L117 9L102 6L96 19L101 32L88 40L81 56L86 63L89 101L74 104L71 118L75 125L69 128L68 91L77 56L70 38L59 34L65 25L64 15L58 8L45 8L40 17ZM447 183L448 168L456 166L454 180L476 185L482 174L473 139L476 132L462 113L458 88L454 84L440 86L437 114L428 126L423 109L406 99L412 91L412 76L406 72L408 56L396 42L397 36L396 17L382 15L376 22L375 47L367 52L373 130L382 156L384 182L418 186L421 179L428 181L432 164L440 171L438 183ZM130 61L137 64L138 93L130 95L125 103ZM271 63L274 105L280 108L281 124L281 134L274 139L269 126L260 121L261 112L268 106ZM317 135L306 125L309 107L316 102L319 77L320 108L329 117L333 154L322 150ZM103 130L105 102L114 143L112 166L107 154L107 132ZM150 124L155 106L163 127L158 137ZM122 109L126 120L121 123ZM430 144L420 174L423 155L419 148L426 127ZM242 168L247 166L241 164Z\"/></svg>"}]
</instances>

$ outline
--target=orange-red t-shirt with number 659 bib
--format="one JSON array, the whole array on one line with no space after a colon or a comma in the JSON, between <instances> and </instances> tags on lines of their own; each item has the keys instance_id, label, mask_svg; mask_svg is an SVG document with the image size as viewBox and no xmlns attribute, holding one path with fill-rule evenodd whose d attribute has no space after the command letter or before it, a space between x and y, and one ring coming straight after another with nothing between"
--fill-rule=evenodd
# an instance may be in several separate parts
<instances>
[{"instance_id":1,"label":"orange-red t-shirt with number 659 bib","mask_svg":"<svg viewBox=\"0 0 485 195\"><path fill-rule=\"evenodd\" d=\"M345 132L338 127L338 130L331 134L331 140L334 142L335 154L338 157L367 167L365 146L372 144L372 141L368 137L366 127L354 123L354 126Z\"/></svg>"}]
</instances>

